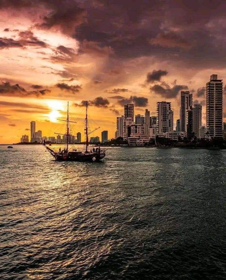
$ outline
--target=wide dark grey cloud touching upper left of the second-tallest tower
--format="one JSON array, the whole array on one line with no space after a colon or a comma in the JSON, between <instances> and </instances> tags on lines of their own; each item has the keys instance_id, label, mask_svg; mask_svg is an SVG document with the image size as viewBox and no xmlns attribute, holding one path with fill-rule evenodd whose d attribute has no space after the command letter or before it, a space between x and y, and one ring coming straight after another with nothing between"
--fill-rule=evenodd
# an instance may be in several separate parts
<instances>
[{"instance_id":1,"label":"wide dark grey cloud touching upper left of the second-tallest tower","mask_svg":"<svg viewBox=\"0 0 226 280\"><path fill-rule=\"evenodd\" d=\"M175 85L173 87L167 86L163 87L162 85L154 85L150 87L150 91L154 92L165 98L175 98L177 94L184 89L188 89L186 85Z\"/></svg>"}]
</instances>

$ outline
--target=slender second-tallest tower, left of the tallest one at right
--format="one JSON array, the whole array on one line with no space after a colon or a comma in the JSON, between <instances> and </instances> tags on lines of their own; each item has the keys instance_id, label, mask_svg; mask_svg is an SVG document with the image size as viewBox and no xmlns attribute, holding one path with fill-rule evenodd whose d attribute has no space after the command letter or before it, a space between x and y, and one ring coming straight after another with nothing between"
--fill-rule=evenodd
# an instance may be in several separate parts
<instances>
[{"instance_id":1,"label":"slender second-tallest tower, left of the tallest one at right","mask_svg":"<svg viewBox=\"0 0 226 280\"><path fill-rule=\"evenodd\" d=\"M192 93L189 91L180 92L180 131L187 132L186 112L192 106Z\"/></svg>"}]
</instances>

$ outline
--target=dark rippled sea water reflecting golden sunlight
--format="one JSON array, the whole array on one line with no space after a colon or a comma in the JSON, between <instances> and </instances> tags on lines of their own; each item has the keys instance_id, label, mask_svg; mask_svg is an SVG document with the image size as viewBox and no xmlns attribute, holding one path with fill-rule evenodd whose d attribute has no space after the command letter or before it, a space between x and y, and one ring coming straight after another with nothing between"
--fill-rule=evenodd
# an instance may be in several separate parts
<instances>
[{"instance_id":1,"label":"dark rippled sea water reflecting golden sunlight","mask_svg":"<svg viewBox=\"0 0 226 280\"><path fill-rule=\"evenodd\" d=\"M225 279L226 150L0 146L0 279Z\"/></svg>"}]
</instances>

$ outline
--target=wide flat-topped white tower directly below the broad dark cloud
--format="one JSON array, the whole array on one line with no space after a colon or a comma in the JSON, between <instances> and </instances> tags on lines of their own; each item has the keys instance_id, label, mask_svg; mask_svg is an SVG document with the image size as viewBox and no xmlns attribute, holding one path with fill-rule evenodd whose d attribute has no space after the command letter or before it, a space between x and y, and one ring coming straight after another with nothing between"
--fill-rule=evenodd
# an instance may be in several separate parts
<instances>
[{"instance_id":1,"label":"wide flat-topped white tower directly below the broad dark cloud","mask_svg":"<svg viewBox=\"0 0 226 280\"><path fill-rule=\"evenodd\" d=\"M173 130L173 111L171 102L157 102L157 131L159 134Z\"/></svg>"}]
</instances>

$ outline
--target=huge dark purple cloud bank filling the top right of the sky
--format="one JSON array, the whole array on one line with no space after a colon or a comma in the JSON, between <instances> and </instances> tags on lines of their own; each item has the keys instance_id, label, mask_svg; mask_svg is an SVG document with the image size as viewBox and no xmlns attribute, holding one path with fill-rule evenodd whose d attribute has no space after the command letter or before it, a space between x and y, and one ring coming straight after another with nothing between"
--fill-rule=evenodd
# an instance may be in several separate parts
<instances>
[{"instance_id":1,"label":"huge dark purple cloud bank filling the top right of the sky","mask_svg":"<svg viewBox=\"0 0 226 280\"><path fill-rule=\"evenodd\" d=\"M210 0L2 0L0 8L21 14L36 8L40 11L38 27L60 29L76 38L80 54L107 54L118 61L150 56L196 69L209 65L219 69L226 63L226 3L221 0L214 2L214 12ZM0 47L21 44L3 41ZM61 52L52 57L57 61L71 55L56 51Z\"/></svg>"}]
</instances>

